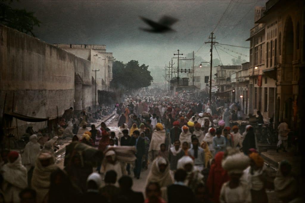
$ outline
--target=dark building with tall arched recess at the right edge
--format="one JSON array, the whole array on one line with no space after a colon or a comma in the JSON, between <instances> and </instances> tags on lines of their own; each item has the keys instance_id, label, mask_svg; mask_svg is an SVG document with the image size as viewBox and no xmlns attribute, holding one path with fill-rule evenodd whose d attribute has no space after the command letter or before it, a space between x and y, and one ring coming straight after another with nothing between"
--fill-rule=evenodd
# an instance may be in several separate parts
<instances>
[{"instance_id":1,"label":"dark building with tall arched recess at the right edge","mask_svg":"<svg viewBox=\"0 0 305 203\"><path fill-rule=\"evenodd\" d=\"M267 108L276 103L275 124L287 118L292 129L300 126L300 117L304 113L300 87L305 66L304 9L301 0L269 0L263 15L255 22L265 24L266 54L262 72L268 76L266 84L270 84L269 78L276 81L276 91L270 91L268 87ZM264 79L262 81L264 83ZM273 91L275 96L269 101Z\"/></svg>"}]
</instances>

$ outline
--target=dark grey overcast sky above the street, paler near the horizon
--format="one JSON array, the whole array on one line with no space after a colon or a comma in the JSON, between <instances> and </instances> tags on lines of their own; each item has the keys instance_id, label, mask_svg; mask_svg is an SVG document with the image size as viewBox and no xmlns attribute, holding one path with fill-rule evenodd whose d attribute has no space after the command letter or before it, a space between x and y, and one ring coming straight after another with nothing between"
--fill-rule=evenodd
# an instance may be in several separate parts
<instances>
[{"instance_id":1,"label":"dark grey overcast sky above the street, paler near the horizon","mask_svg":"<svg viewBox=\"0 0 305 203\"><path fill-rule=\"evenodd\" d=\"M113 52L119 61L138 60L141 64L163 67L177 49L184 54L194 50L196 55L210 61L210 48L204 41L214 29L219 43L249 47L245 40L254 26L254 7L265 2L23 0L14 2L13 7L35 12L41 26L34 33L43 41L105 44L107 52ZM158 21L163 15L179 19L172 26L176 32L155 34L139 30L148 28L139 16ZM224 65L231 63L231 55L238 57L232 51L247 55L242 59L249 61L248 49L223 46L230 49L229 55L220 48L218 53ZM213 56L218 58L217 52L213 51Z\"/></svg>"}]
</instances>

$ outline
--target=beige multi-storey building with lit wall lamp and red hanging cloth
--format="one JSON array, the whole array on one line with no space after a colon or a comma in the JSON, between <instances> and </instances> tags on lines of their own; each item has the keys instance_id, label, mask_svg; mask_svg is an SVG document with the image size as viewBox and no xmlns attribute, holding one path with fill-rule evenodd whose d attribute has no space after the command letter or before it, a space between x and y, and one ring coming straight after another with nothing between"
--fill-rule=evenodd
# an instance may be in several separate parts
<instances>
[{"instance_id":1,"label":"beige multi-storey building with lit wall lamp and red hanging cloth","mask_svg":"<svg viewBox=\"0 0 305 203\"><path fill-rule=\"evenodd\" d=\"M265 7L255 7L255 22L261 18ZM250 64L249 64L249 113L256 114L259 110L264 121L274 118L275 110L275 71L277 47L277 21L271 25L255 23L250 30Z\"/></svg>"}]
</instances>

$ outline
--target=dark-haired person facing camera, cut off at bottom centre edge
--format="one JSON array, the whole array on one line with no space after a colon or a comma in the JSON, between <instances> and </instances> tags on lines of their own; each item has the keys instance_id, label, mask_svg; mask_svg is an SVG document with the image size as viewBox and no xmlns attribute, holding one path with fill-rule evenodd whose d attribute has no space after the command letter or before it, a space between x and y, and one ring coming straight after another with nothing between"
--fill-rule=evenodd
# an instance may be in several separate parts
<instances>
[{"instance_id":1,"label":"dark-haired person facing camera, cut off at bottom centre edge","mask_svg":"<svg viewBox=\"0 0 305 203\"><path fill-rule=\"evenodd\" d=\"M166 203L161 197L160 185L156 182L150 182L145 189L146 199L144 203Z\"/></svg>"}]
</instances>

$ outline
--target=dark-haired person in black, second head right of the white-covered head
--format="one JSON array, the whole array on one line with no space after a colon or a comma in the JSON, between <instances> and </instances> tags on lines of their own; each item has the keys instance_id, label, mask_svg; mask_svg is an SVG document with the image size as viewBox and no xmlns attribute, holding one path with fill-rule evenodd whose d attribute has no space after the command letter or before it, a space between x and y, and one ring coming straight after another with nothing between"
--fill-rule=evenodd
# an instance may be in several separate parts
<instances>
[{"instance_id":1,"label":"dark-haired person in black, second head right of the white-covered head","mask_svg":"<svg viewBox=\"0 0 305 203\"><path fill-rule=\"evenodd\" d=\"M122 176L119 179L120 193L114 199L114 203L143 203L144 196L142 192L135 192L131 189L132 179L129 176Z\"/></svg>"}]
</instances>

